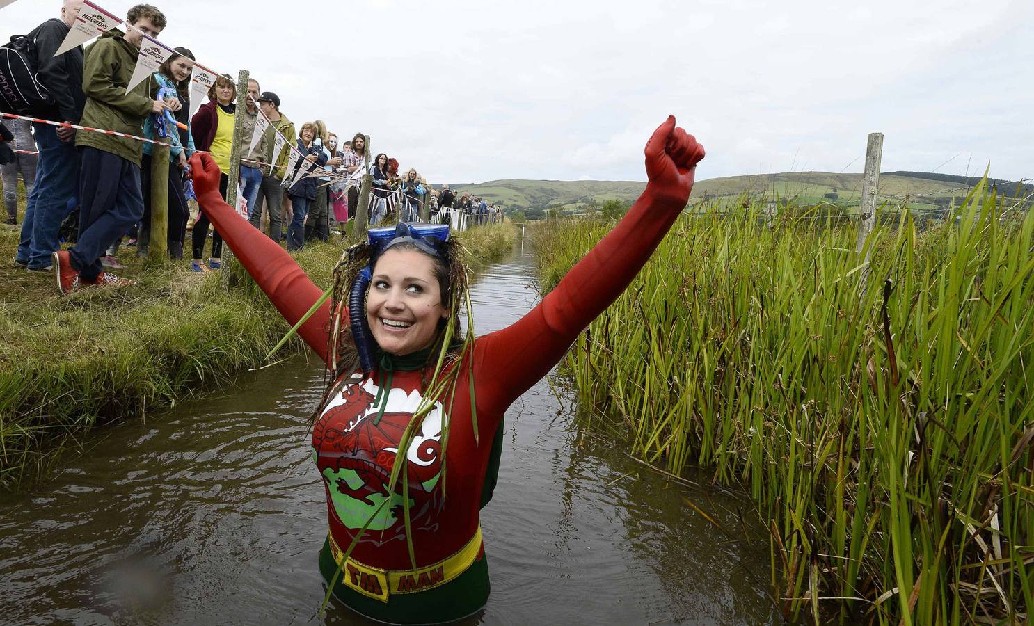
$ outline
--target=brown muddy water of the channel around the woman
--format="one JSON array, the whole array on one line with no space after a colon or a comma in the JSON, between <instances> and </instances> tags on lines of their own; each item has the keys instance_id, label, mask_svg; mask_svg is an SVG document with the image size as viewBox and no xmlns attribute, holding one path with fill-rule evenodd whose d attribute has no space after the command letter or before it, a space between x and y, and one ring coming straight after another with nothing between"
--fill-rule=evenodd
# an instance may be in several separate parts
<instances>
[{"instance_id":1,"label":"brown muddy water of the channel around the woman","mask_svg":"<svg viewBox=\"0 0 1034 626\"><path fill-rule=\"evenodd\" d=\"M479 333L534 305L530 274L518 246L481 277ZM317 616L327 508L305 422L322 383L304 357L248 374L0 495L0 623L366 623L333 602ZM780 622L763 529L737 512L751 505L625 447L579 430L547 381L511 407L482 511L492 594L469 623Z\"/></svg>"}]
</instances>

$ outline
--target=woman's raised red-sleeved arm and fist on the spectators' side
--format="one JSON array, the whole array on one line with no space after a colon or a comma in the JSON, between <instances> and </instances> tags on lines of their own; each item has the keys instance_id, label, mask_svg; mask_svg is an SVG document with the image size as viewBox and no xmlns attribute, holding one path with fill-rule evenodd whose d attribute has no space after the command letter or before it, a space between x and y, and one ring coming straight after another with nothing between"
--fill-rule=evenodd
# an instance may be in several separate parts
<instances>
[{"instance_id":1,"label":"woman's raised red-sleeved arm and fist on the spectators' side","mask_svg":"<svg viewBox=\"0 0 1034 626\"><path fill-rule=\"evenodd\" d=\"M241 264L248 271L273 306L294 325L312 307L323 291L320 290L295 259L283 248L266 237L262 230L241 219L219 195L219 166L212 155L197 152L190 157L191 177L197 204L234 251ZM330 304L325 303L302 327L299 336L327 363L327 331Z\"/></svg>"}]
</instances>

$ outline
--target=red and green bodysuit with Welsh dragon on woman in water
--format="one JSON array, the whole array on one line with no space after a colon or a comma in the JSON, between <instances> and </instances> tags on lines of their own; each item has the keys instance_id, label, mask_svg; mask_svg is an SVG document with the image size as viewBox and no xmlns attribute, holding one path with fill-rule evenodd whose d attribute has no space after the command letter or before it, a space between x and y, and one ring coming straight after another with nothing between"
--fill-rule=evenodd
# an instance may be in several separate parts
<instances>
[{"instance_id":1,"label":"red and green bodysuit with Welsh dragon on woman in water","mask_svg":"<svg viewBox=\"0 0 1034 626\"><path fill-rule=\"evenodd\" d=\"M301 319L321 296L321 289L291 256L217 194L206 193L199 200L284 318L291 323ZM378 578L361 567L346 566L344 582L334 589L341 601L367 617L391 623L447 622L485 604L489 584L480 545L479 510L503 415L625 290L683 206L685 200L678 204L670 194L658 194L647 186L616 227L537 307L510 326L475 340L470 357L479 441L475 441L472 427L469 364L463 363L451 411L447 415L448 407L439 402L404 452L417 572L412 570L403 530L401 487L388 494L387 482L401 453L396 449L399 438L420 404L421 372L394 371L390 377L381 370L369 376L356 374L330 399L312 436L316 467L327 491L330 525L321 568L329 580L337 569L334 550L346 550L371 513L391 498L352 558L370 568L410 572L408 576ZM300 328L301 337L325 363L329 316L327 304ZM387 408L377 419L374 398L387 380L391 381L390 389L384 390L389 394ZM446 419L451 431L443 450L440 426ZM444 487L439 480L443 463L448 464ZM459 573L454 557L458 553L474 555L473 563ZM454 569L451 573L450 564ZM387 593L383 589L386 582L392 586Z\"/></svg>"}]
</instances>

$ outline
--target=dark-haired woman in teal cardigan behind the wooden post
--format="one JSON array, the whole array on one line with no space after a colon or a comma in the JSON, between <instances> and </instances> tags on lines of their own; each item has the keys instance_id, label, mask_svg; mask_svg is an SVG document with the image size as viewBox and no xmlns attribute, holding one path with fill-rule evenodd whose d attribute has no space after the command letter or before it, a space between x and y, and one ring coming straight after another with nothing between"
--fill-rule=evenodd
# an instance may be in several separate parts
<instances>
[{"instance_id":1,"label":"dark-haired woman in teal cardigan behind the wooden post","mask_svg":"<svg viewBox=\"0 0 1034 626\"><path fill-rule=\"evenodd\" d=\"M151 97L157 99L162 88L174 90L176 99L183 107L180 109L183 118L187 118L190 109L190 74L193 70L193 55L185 48L177 48L176 54L161 64L158 71L152 76ZM166 92L168 94L169 92ZM172 97L169 95L169 97ZM183 120L178 120L183 122ZM193 155L193 135L190 134L190 125L185 124L186 130L177 128L166 120L165 132L169 135L169 232L166 244L169 246L169 256L176 259L183 258L183 242L187 236L187 220L190 217L190 210L187 208L185 192L185 176L187 159ZM157 123L153 115L148 116L144 122L144 136L149 139L156 138ZM136 253L140 256L147 255L148 243L151 240L151 153L154 146L144 144L144 160L141 164L141 183L144 191L144 217L140 223L140 236L136 241Z\"/></svg>"}]
</instances>

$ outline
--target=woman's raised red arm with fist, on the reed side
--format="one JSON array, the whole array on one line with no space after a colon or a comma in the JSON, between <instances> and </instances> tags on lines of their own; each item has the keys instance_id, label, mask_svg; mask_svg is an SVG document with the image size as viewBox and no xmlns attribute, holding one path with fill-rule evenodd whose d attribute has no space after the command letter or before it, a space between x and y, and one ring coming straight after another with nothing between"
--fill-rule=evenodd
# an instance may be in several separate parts
<instances>
[{"instance_id":1,"label":"woman's raised red arm with fist, on the reed side","mask_svg":"<svg viewBox=\"0 0 1034 626\"><path fill-rule=\"evenodd\" d=\"M506 406L545 376L625 291L686 208L703 146L669 116L646 143L646 190L555 289L510 326L478 338L478 404Z\"/></svg>"}]
</instances>

